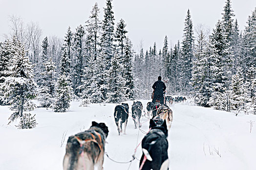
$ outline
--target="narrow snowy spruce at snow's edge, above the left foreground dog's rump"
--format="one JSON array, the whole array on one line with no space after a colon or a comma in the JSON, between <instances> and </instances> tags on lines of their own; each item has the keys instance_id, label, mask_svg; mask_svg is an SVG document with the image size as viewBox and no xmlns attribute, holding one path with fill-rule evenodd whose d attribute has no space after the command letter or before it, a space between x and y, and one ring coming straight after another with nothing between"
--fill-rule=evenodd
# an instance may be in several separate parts
<instances>
[{"instance_id":1,"label":"narrow snowy spruce at snow's edge, above the left foreground dog's rump","mask_svg":"<svg viewBox=\"0 0 256 170\"><path fill-rule=\"evenodd\" d=\"M60 63L60 74L57 81L56 95L57 101L54 103L54 112L66 112L70 107L70 100L73 95L70 76L70 59L68 50L63 48L63 54Z\"/></svg>"}]
</instances>

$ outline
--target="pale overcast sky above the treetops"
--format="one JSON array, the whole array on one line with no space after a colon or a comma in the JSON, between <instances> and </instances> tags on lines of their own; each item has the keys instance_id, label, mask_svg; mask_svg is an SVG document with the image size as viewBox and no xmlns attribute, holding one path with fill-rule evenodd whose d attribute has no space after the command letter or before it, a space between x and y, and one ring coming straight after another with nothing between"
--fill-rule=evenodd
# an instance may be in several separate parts
<instances>
[{"instance_id":1,"label":"pale overcast sky above the treetops","mask_svg":"<svg viewBox=\"0 0 256 170\"><path fill-rule=\"evenodd\" d=\"M134 50L140 42L148 49L154 42L163 47L164 37L174 45L182 40L184 20L190 9L193 26L205 24L212 30L226 0L113 0L115 23L121 18L127 23L128 36ZM239 29L243 30L249 15L256 7L256 0L231 0ZM68 26L74 31L85 25L92 6L98 2L103 19L105 0L0 0L0 35L9 32L10 15L20 16L24 23L38 22L43 37L64 37ZM3 40L3 37L0 38Z\"/></svg>"}]
</instances>

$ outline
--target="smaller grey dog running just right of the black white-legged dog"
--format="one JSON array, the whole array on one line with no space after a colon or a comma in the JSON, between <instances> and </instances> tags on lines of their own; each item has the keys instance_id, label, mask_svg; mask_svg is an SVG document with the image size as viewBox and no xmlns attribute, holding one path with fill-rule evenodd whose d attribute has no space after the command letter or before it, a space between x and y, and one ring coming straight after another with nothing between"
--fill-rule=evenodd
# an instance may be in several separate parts
<instances>
[{"instance_id":1,"label":"smaller grey dog running just right of the black white-legged dog","mask_svg":"<svg viewBox=\"0 0 256 170\"><path fill-rule=\"evenodd\" d=\"M135 129L137 129L137 126L141 127L140 118L141 118L142 109L143 109L143 106L141 102L139 101L133 102L131 106L131 113L132 113Z\"/></svg>"}]
</instances>

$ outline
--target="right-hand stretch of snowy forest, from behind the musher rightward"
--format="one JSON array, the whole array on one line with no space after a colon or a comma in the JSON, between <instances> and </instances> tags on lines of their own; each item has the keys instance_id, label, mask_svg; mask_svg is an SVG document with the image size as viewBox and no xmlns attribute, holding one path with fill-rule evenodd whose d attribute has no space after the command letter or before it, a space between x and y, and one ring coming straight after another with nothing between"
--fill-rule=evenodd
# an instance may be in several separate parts
<instances>
[{"instance_id":1,"label":"right-hand stretch of snowy forest, from behind the musher rightward","mask_svg":"<svg viewBox=\"0 0 256 170\"><path fill-rule=\"evenodd\" d=\"M134 77L141 81L135 81L136 94L147 98L160 74L168 80L168 94L191 95L204 107L256 114L256 8L243 31L234 17L227 0L210 34L203 25L193 29L188 10L181 43L170 47L166 36L159 52L154 44L136 54Z\"/></svg>"}]
</instances>

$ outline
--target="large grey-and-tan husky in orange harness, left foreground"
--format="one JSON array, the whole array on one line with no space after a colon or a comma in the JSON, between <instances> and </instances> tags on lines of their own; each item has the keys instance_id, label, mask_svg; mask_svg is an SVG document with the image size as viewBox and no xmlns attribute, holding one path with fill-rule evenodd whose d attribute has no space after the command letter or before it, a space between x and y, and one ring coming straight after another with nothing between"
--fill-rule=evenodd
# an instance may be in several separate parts
<instances>
[{"instance_id":1,"label":"large grey-and-tan husky in orange harness, left foreground","mask_svg":"<svg viewBox=\"0 0 256 170\"><path fill-rule=\"evenodd\" d=\"M64 170L103 170L105 143L108 128L105 123L92 121L85 132L70 136L63 160Z\"/></svg>"}]
</instances>

